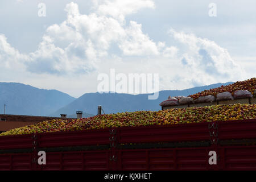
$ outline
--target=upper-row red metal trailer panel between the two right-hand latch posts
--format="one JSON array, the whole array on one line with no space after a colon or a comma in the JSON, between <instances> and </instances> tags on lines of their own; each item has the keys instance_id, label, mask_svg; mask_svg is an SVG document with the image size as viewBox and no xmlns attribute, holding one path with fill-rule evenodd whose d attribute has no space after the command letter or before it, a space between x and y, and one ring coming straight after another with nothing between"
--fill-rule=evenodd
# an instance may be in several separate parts
<instances>
[{"instance_id":1,"label":"upper-row red metal trailer panel between the two right-hand latch posts","mask_svg":"<svg viewBox=\"0 0 256 182\"><path fill-rule=\"evenodd\" d=\"M119 143L182 142L209 139L209 123L118 128Z\"/></svg>"}]
</instances>

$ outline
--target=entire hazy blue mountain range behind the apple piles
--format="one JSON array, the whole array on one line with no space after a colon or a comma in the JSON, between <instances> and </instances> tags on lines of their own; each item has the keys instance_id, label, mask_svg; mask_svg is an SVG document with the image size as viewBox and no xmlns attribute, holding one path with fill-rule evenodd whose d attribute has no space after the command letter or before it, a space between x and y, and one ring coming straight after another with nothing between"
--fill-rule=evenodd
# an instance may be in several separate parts
<instances>
[{"instance_id":1,"label":"entire hazy blue mountain range behind the apple piles","mask_svg":"<svg viewBox=\"0 0 256 182\"><path fill-rule=\"evenodd\" d=\"M168 96L188 96L216 88L224 84L198 86L184 90L162 90L156 100L148 100L151 94L124 94L124 93L85 93L79 98L71 97L58 90L46 90L30 85L0 82L0 113L3 113L6 104L6 114L19 115L45 115L60 117L67 114L76 118L76 111L83 111L82 117L92 117L97 114L98 105L102 106L102 113L121 113L137 110L160 110L160 102L167 100Z\"/></svg>"}]
</instances>

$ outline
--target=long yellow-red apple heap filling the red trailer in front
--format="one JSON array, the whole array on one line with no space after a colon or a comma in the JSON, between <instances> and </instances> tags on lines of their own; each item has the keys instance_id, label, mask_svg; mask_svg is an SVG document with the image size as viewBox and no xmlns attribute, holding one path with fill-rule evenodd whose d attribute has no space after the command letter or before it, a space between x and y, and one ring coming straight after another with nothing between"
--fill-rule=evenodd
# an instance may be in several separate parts
<instances>
[{"instance_id":1,"label":"long yellow-red apple heap filling the red trailer in front","mask_svg":"<svg viewBox=\"0 0 256 182\"><path fill-rule=\"evenodd\" d=\"M160 111L135 111L132 113L103 114L82 119L53 119L51 121L44 121L35 125L6 131L5 133L0 134L0 136L255 118L255 104L213 105Z\"/></svg>"}]
</instances>

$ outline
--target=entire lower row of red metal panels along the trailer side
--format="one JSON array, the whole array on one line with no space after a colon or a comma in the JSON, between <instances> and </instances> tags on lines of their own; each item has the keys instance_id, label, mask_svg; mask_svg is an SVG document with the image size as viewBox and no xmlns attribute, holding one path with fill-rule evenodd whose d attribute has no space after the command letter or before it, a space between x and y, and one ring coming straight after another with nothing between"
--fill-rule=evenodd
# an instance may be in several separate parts
<instances>
[{"instance_id":1,"label":"entire lower row of red metal panels along the trailer side","mask_svg":"<svg viewBox=\"0 0 256 182\"><path fill-rule=\"evenodd\" d=\"M215 150L220 160L208 164L208 152ZM34 167L32 154L1 154L0 170L104 170L114 168L110 151L47 152L46 165ZM193 148L151 148L119 150L115 170L256 170L256 146L222 146ZM116 165L115 165L116 164Z\"/></svg>"}]
</instances>

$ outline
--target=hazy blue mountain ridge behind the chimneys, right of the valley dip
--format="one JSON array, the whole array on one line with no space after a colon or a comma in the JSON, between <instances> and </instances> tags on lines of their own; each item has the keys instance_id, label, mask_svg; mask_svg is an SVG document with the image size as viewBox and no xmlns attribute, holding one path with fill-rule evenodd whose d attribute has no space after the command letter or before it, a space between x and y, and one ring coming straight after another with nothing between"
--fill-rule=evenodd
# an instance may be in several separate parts
<instances>
[{"instance_id":1,"label":"hazy blue mountain ridge behind the chimneys, right of the valley dip","mask_svg":"<svg viewBox=\"0 0 256 182\"><path fill-rule=\"evenodd\" d=\"M58 116L59 114L71 115L76 111L84 111L85 113L97 114L97 106L101 105L104 112L121 113L125 111L137 110L160 110L160 102L167 100L168 96L188 96L203 90L217 88L221 85L229 85L233 82L218 83L207 86L197 86L184 90L162 90L156 100L148 100L151 94L121 94L121 93L85 93L70 104L60 108L50 116Z\"/></svg>"}]
</instances>

